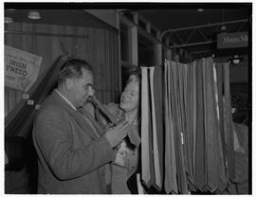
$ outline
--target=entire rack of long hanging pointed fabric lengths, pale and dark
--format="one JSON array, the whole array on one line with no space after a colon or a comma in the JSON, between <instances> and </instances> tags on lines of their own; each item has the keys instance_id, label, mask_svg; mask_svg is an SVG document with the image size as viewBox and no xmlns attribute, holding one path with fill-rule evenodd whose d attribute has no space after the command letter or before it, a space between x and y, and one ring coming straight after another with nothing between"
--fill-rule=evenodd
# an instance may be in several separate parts
<instances>
[{"instance_id":1,"label":"entire rack of long hanging pointed fabric lengths, pale and dark","mask_svg":"<svg viewBox=\"0 0 256 197\"><path fill-rule=\"evenodd\" d=\"M141 180L160 193L222 193L235 178L229 63L141 67Z\"/></svg>"}]
</instances>

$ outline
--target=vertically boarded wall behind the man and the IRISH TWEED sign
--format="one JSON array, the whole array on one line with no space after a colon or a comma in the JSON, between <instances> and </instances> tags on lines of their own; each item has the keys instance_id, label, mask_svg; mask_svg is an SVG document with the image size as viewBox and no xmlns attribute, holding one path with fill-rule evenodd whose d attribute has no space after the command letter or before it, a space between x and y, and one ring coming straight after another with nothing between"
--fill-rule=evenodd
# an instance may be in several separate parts
<instances>
[{"instance_id":1,"label":"vertically boarded wall behind the man and the IRISH TWEED sign","mask_svg":"<svg viewBox=\"0 0 256 197\"><path fill-rule=\"evenodd\" d=\"M95 88L98 99L103 103L118 101L119 98L119 57L118 31L92 27L54 26L44 24L8 25L7 31L43 32L86 35L88 38L46 36L40 33L5 33L5 45L10 45L43 57L38 80L44 76L59 56L56 44L61 41L69 54L92 64L95 72ZM5 115L22 99L22 91L5 88Z\"/></svg>"}]
</instances>

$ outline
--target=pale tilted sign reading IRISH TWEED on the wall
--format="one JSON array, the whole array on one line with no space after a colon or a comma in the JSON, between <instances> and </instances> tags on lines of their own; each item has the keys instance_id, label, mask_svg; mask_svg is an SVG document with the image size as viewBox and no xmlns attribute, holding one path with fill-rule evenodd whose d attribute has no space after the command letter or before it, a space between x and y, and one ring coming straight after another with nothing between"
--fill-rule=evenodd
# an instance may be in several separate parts
<instances>
[{"instance_id":1,"label":"pale tilted sign reading IRISH TWEED on the wall","mask_svg":"<svg viewBox=\"0 0 256 197\"><path fill-rule=\"evenodd\" d=\"M37 80L42 57L5 45L5 85L27 92Z\"/></svg>"}]
</instances>

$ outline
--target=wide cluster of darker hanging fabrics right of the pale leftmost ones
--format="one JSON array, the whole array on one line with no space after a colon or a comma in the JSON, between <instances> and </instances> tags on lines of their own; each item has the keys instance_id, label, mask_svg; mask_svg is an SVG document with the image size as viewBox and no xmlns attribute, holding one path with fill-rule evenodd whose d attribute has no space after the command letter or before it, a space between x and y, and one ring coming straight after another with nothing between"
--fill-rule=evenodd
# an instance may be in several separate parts
<instances>
[{"instance_id":1,"label":"wide cluster of darker hanging fabrics right of the pale leftmost ones","mask_svg":"<svg viewBox=\"0 0 256 197\"><path fill-rule=\"evenodd\" d=\"M170 81L170 93L167 83L164 95L165 105L171 108L166 107L165 120L173 121L165 123L165 189L169 192L174 187L170 184L174 169L167 166L174 164L172 151L176 165L173 182L176 180L179 193L187 193L188 187L221 193L234 181L234 165L238 165L231 132L229 65L216 65L211 57L189 64L168 62L165 69L169 64L170 73L164 77L165 82ZM174 149L169 139L172 124Z\"/></svg>"}]
</instances>

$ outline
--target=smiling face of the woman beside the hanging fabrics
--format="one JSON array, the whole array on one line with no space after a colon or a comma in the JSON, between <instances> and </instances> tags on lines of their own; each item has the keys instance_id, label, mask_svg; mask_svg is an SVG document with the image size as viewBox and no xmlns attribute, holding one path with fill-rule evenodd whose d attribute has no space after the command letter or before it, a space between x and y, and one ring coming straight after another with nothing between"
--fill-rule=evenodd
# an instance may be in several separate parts
<instances>
[{"instance_id":1,"label":"smiling face of the woman beside the hanging fabrics","mask_svg":"<svg viewBox=\"0 0 256 197\"><path fill-rule=\"evenodd\" d=\"M119 107L125 112L133 112L139 104L139 88L137 81L130 81L121 94Z\"/></svg>"}]
</instances>

